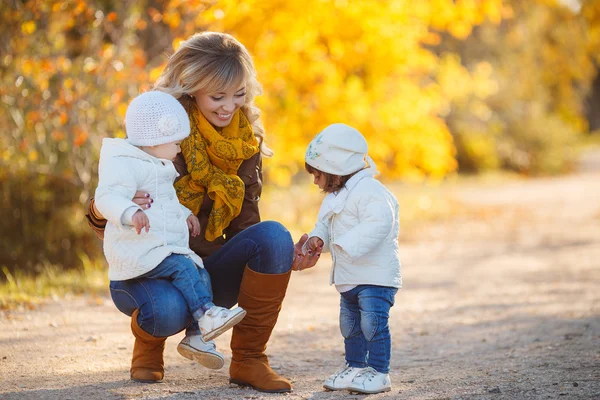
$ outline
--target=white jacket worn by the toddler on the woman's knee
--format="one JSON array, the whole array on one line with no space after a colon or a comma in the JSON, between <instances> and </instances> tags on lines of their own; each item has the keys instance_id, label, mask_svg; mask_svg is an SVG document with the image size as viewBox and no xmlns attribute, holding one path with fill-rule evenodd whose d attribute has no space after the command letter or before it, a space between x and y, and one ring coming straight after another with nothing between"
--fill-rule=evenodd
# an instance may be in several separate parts
<instances>
[{"instance_id":1,"label":"white jacket worn by the toddler on the woman's knee","mask_svg":"<svg viewBox=\"0 0 600 400\"><path fill-rule=\"evenodd\" d=\"M154 269L170 254L184 254L202 267L202 259L189 248L186 219L191 211L179 203L173 182L177 171L169 160L158 159L123 139L103 139L95 194L98 211L108 220L104 255L108 278L131 279ZM150 230L138 235L131 217L141 207L131 199L136 191L154 200L143 210Z\"/></svg>"}]
</instances>

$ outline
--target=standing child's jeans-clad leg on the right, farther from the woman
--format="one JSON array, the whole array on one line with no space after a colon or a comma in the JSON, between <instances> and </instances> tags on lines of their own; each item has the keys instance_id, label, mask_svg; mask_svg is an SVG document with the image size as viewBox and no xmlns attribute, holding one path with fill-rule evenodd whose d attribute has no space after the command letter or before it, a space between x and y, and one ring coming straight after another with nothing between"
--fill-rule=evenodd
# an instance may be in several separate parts
<instances>
[{"instance_id":1,"label":"standing child's jeans-clad leg on the right, farther from the woman","mask_svg":"<svg viewBox=\"0 0 600 400\"><path fill-rule=\"evenodd\" d=\"M360 327L367 340L369 367L387 374L390 371L392 338L390 335L390 308L398 289L384 286L359 286Z\"/></svg>"}]
</instances>

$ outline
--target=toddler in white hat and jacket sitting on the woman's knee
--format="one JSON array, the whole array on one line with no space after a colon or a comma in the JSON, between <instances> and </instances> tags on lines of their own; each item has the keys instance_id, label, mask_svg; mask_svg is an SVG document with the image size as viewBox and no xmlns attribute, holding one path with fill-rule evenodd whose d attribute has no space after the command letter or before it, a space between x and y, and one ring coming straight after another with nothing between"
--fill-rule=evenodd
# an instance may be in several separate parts
<instances>
[{"instance_id":1,"label":"toddler in white hat and jacket sitting on the woman's knee","mask_svg":"<svg viewBox=\"0 0 600 400\"><path fill-rule=\"evenodd\" d=\"M127 139L102 141L98 168L95 206L108 221L108 277L171 280L197 322L187 330L189 340L210 341L240 322L246 311L215 306L208 272L189 248L189 233L198 235L200 223L177 199L172 162L190 134L189 118L173 96L151 91L130 103L125 128ZM137 191L148 193L154 202L142 209L132 201ZM221 368L223 357L212 349L211 363L198 361Z\"/></svg>"}]
</instances>

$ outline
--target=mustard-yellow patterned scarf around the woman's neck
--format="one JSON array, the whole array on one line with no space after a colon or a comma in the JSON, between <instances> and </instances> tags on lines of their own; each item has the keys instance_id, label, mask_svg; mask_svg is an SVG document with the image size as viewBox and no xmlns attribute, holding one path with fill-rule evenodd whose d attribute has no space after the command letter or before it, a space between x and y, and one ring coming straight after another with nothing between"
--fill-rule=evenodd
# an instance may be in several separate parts
<instances>
[{"instance_id":1,"label":"mustard-yellow patterned scarf around the woman's neck","mask_svg":"<svg viewBox=\"0 0 600 400\"><path fill-rule=\"evenodd\" d=\"M204 195L214 200L204 237L223 236L223 230L242 210L244 182L237 175L244 160L258 153L258 140L241 110L217 131L202 115L195 101L182 101L190 117L191 132L181 143L188 174L175 183L181 204L200 212Z\"/></svg>"}]
</instances>

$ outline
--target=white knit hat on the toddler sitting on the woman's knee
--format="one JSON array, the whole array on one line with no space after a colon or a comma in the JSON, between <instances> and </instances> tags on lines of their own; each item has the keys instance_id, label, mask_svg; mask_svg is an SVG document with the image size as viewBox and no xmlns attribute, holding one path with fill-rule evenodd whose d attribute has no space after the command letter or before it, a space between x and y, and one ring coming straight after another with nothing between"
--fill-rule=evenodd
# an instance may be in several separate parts
<instances>
[{"instance_id":1,"label":"white knit hat on the toddler sitting on the woman's knee","mask_svg":"<svg viewBox=\"0 0 600 400\"><path fill-rule=\"evenodd\" d=\"M127 141L134 146L157 146L190 135L190 120L170 94L151 91L133 99L125 113Z\"/></svg>"}]
</instances>

